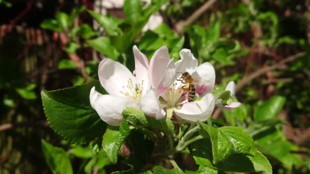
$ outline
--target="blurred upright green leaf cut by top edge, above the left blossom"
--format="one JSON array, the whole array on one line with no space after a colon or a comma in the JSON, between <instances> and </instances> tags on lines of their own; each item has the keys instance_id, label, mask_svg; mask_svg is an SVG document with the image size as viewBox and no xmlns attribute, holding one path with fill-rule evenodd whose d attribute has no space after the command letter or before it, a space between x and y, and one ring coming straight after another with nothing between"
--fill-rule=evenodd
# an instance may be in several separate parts
<instances>
[{"instance_id":1,"label":"blurred upright green leaf cut by top edge, above the left blossom","mask_svg":"<svg viewBox=\"0 0 310 174\"><path fill-rule=\"evenodd\" d=\"M139 21L142 13L140 0L125 0L124 12L132 23Z\"/></svg>"}]
</instances>

